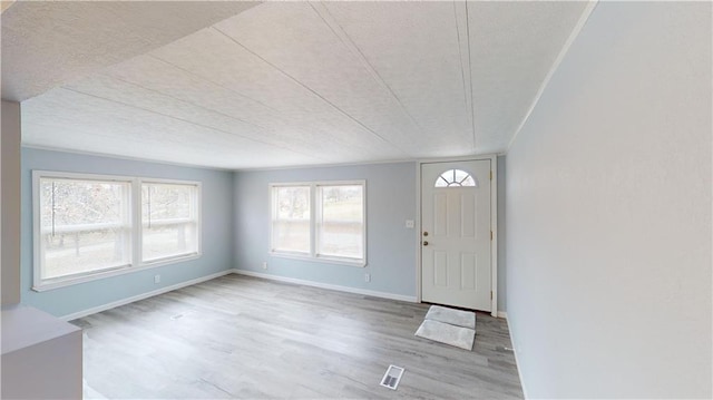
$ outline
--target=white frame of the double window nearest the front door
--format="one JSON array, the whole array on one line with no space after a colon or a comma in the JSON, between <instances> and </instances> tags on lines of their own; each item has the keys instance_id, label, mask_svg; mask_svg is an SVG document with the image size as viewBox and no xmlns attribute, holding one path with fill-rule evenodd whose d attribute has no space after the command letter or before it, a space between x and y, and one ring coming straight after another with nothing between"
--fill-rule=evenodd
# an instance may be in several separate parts
<instances>
[{"instance_id":1,"label":"white frame of the double window nearest the front door","mask_svg":"<svg viewBox=\"0 0 713 400\"><path fill-rule=\"evenodd\" d=\"M309 187L310 188L310 252L309 253L300 253L300 252L287 252L275 250L273 245L273 217L275 213L275 197L274 189L280 187ZM322 207L321 198L318 198L319 187L322 186L361 186L362 187L362 258L353 258L353 257L340 257L333 255L323 255L318 253L318 224L321 221L318 218L321 217L321 213L319 213ZM268 198L270 198L270 248L268 254L277 257L285 258L296 258L296 260L309 260L316 262L324 262L330 264L343 264L351 266L367 266L367 181L356 179L356 181L319 181L319 182L285 182L285 183L271 183L268 184ZM319 204L318 204L319 202Z\"/></svg>"}]
</instances>

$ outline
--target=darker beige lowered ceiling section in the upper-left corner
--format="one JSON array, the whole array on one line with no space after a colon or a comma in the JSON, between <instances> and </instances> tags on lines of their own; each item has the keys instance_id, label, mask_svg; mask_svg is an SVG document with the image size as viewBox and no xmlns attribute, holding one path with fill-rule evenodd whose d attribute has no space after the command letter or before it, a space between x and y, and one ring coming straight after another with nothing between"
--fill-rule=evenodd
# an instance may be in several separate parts
<instances>
[{"instance_id":1,"label":"darker beige lowered ceiling section in the upper-left corner","mask_svg":"<svg viewBox=\"0 0 713 400\"><path fill-rule=\"evenodd\" d=\"M2 98L26 100L256 4L3 1Z\"/></svg>"}]
</instances>

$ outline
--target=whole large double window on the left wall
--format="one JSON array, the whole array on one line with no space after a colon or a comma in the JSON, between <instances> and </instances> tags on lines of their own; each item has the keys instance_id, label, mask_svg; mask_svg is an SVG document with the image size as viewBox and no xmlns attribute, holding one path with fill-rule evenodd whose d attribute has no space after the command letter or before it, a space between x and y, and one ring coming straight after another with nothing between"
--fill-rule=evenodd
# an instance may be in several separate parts
<instances>
[{"instance_id":1,"label":"whole large double window on the left wall","mask_svg":"<svg viewBox=\"0 0 713 400\"><path fill-rule=\"evenodd\" d=\"M197 183L39 170L32 181L35 290L199 255Z\"/></svg>"}]
</instances>

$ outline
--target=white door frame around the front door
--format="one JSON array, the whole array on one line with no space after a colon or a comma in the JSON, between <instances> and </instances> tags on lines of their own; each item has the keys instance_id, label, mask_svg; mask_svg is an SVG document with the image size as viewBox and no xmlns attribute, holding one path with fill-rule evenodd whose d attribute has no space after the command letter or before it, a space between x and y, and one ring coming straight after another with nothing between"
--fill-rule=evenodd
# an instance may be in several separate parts
<instances>
[{"instance_id":1,"label":"white door frame around the front door","mask_svg":"<svg viewBox=\"0 0 713 400\"><path fill-rule=\"evenodd\" d=\"M492 231L492 241L490 242L490 290L492 299L490 300L490 315L498 316L498 158L492 155L480 155L456 158L428 158L419 159L416 163L416 301L421 302L421 165L430 163L450 163L450 162L470 162L470 160L490 160L490 170L492 179L490 179L490 231Z\"/></svg>"}]
</instances>

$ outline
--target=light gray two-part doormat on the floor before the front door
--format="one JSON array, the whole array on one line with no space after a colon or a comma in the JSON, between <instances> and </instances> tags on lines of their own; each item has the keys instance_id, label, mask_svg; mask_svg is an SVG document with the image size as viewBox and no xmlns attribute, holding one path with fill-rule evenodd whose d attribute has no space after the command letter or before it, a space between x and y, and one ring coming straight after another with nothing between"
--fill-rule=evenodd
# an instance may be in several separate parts
<instances>
[{"instance_id":1,"label":"light gray two-part doormat on the floor before the front door","mask_svg":"<svg viewBox=\"0 0 713 400\"><path fill-rule=\"evenodd\" d=\"M471 351L476 340L475 328L473 312L431 305L416 335Z\"/></svg>"}]
</instances>

